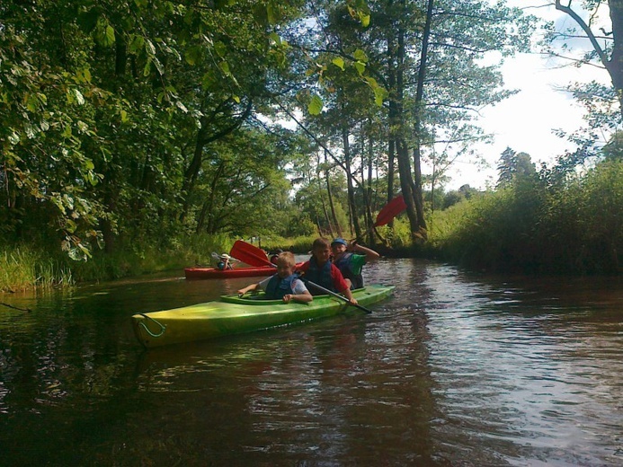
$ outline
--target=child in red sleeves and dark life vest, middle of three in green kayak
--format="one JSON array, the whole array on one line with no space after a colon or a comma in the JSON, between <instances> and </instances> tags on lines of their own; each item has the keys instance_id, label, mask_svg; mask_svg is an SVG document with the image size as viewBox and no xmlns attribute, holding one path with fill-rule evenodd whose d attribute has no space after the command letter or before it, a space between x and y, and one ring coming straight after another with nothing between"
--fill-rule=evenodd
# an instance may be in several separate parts
<instances>
[{"instance_id":1,"label":"child in red sleeves and dark life vest, middle of three in green kayak","mask_svg":"<svg viewBox=\"0 0 623 467\"><path fill-rule=\"evenodd\" d=\"M312 245L312 257L298 267L307 285L311 286L313 295L322 295L323 291L315 289L313 284L325 287L332 292L344 295L351 304L357 304L352 296L351 286L344 280L340 269L331 262L331 242L325 238L316 238Z\"/></svg>"}]
</instances>

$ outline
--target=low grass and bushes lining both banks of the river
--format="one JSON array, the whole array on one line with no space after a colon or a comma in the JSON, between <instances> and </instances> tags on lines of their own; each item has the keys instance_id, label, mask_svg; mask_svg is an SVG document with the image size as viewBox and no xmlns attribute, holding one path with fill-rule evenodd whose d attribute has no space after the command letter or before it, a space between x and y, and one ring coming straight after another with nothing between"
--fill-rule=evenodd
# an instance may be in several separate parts
<instances>
[{"instance_id":1,"label":"low grass and bushes lining both banks of the river","mask_svg":"<svg viewBox=\"0 0 623 467\"><path fill-rule=\"evenodd\" d=\"M583 176L552 188L532 177L478 192L450 207L429 211L429 240L413 245L409 225L397 217L379 227L385 256L448 261L467 269L558 275L620 275L623 272L623 161L600 163ZM315 234L261 237L264 250L308 251ZM326 233L325 236L333 236ZM224 234L138 243L113 254L94 251L85 261L60 249L19 244L0 251L0 291L71 286L194 265L209 265L212 251L229 251Z\"/></svg>"}]
</instances>

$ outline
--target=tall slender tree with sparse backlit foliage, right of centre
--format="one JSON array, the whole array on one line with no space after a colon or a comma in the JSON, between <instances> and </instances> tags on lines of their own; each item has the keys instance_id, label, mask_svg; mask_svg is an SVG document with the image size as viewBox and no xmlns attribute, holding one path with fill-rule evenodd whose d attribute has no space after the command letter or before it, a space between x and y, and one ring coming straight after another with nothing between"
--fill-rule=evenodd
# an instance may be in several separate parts
<instances>
[{"instance_id":1,"label":"tall slender tree with sparse backlit foliage, right of centre","mask_svg":"<svg viewBox=\"0 0 623 467\"><path fill-rule=\"evenodd\" d=\"M320 113L323 103L338 108L330 97L336 89L352 91L357 85L367 90L370 104L373 99L384 104L380 115L387 128L387 199L396 189L397 162L412 238L419 241L426 235L423 161L439 141L476 139L478 130L471 124L476 110L510 95L503 91L496 68L480 65L479 59L494 50L506 57L528 49L530 18L518 9L467 0L370 1L365 23L341 2L327 0L323 7L327 13L315 16L316 44L299 46L315 58L313 72L323 84L314 89L315 97L322 94L316 99L321 102L316 114L330 114ZM350 75L352 86L335 86L329 72L349 69L348 64L357 71ZM352 96L343 93L339 109ZM366 109L358 106L360 113ZM456 128L463 131L458 134Z\"/></svg>"}]
</instances>

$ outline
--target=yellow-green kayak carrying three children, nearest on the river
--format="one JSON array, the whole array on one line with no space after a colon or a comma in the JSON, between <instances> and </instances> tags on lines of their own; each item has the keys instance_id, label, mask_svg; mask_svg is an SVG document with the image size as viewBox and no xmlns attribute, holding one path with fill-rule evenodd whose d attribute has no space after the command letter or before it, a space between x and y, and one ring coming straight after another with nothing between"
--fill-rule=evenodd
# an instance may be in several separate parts
<instances>
[{"instance_id":1,"label":"yellow-green kayak carrying three children, nearest on the river","mask_svg":"<svg viewBox=\"0 0 623 467\"><path fill-rule=\"evenodd\" d=\"M352 295L360 305L366 306L386 298L393 290L394 286L370 285L354 290ZM317 295L307 304L284 304L280 300L262 299L262 295L248 298L223 295L205 304L137 313L132 316L132 327L138 341L146 348L153 348L316 320L347 309L357 308L334 295Z\"/></svg>"}]
</instances>

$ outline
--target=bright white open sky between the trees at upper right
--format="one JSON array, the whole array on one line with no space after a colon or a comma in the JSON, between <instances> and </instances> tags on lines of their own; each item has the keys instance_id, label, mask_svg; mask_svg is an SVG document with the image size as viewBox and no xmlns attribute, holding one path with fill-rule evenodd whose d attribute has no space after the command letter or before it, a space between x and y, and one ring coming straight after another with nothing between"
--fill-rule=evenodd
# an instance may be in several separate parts
<instances>
[{"instance_id":1,"label":"bright white open sky between the trees at upper right","mask_svg":"<svg viewBox=\"0 0 623 467\"><path fill-rule=\"evenodd\" d=\"M551 3L547 0L507 1L511 6L524 8ZM554 5L528 8L526 13L554 21L556 29L574 26L573 20L557 12ZM574 47L583 46L589 46L587 40L574 44ZM605 70L594 66L576 68L560 65L555 59L537 53L506 59L502 67L504 87L520 92L494 107L485 108L478 119L478 124L485 132L494 135L493 144L477 146L478 152L485 157L490 167L482 169L475 163L458 161L449 172L452 180L445 187L446 190L458 189L465 184L478 189L494 186L498 175L495 166L507 147L518 153L530 154L532 162L537 166L541 162L551 164L557 154L574 149L574 145L556 137L553 130L564 128L573 131L581 128L583 108L569 93L560 89L573 82L590 82L593 79L608 83L609 77Z\"/></svg>"}]
</instances>

